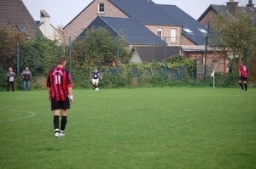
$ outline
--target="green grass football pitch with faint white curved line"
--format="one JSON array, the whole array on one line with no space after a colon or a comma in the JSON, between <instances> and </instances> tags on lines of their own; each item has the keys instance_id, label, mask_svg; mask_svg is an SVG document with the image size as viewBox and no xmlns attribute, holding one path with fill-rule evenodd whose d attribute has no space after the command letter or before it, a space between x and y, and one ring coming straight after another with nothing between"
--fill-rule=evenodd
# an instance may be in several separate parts
<instances>
[{"instance_id":1,"label":"green grass football pitch with faint white curved line","mask_svg":"<svg viewBox=\"0 0 256 169\"><path fill-rule=\"evenodd\" d=\"M0 93L1 169L256 168L256 89L74 90L54 137L47 91Z\"/></svg>"}]
</instances>

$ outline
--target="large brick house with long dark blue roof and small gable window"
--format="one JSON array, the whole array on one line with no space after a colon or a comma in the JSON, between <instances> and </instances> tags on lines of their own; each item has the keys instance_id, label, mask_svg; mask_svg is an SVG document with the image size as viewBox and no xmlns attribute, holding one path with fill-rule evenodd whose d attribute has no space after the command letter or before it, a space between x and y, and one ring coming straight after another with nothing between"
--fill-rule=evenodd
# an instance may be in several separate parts
<instances>
[{"instance_id":1,"label":"large brick house with long dark blue roof and small gable window","mask_svg":"<svg viewBox=\"0 0 256 169\"><path fill-rule=\"evenodd\" d=\"M131 5L132 4L132 5ZM131 18L168 45L203 45L206 28L175 5L152 0L94 0L64 27L66 38L79 37L97 16Z\"/></svg>"}]
</instances>

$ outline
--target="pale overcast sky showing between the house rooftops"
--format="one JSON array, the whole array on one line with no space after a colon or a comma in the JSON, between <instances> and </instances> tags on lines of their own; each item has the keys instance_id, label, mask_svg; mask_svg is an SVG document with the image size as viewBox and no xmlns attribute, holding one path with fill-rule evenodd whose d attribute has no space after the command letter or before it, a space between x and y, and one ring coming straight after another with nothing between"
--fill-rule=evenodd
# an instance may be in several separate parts
<instances>
[{"instance_id":1,"label":"pale overcast sky showing between the house rooftops","mask_svg":"<svg viewBox=\"0 0 256 169\"><path fill-rule=\"evenodd\" d=\"M50 22L57 25L67 25L93 0L23 0L34 20L40 20L40 10L45 10L50 16ZM120 0L121 1L121 0ZM154 3L172 4L181 8L197 20L210 4L226 4L230 0L153 0ZM235 0L239 6L245 6L248 0ZM253 3L255 3L254 0Z\"/></svg>"}]
</instances>

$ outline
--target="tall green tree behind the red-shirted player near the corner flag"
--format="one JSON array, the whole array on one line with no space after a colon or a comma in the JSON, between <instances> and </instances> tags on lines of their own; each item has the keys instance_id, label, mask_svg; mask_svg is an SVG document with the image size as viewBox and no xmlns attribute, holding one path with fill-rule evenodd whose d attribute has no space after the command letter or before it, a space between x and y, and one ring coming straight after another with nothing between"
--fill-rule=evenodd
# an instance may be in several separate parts
<instances>
[{"instance_id":1,"label":"tall green tree behind the red-shirted player near the corner flag","mask_svg":"<svg viewBox=\"0 0 256 169\"><path fill-rule=\"evenodd\" d=\"M252 23L249 32L249 22ZM247 63L248 36L250 41L250 57L256 54L256 27L253 15L238 10L234 15L215 14L211 23L209 44L213 48L221 49L230 63L230 69L238 72L240 61Z\"/></svg>"}]
</instances>

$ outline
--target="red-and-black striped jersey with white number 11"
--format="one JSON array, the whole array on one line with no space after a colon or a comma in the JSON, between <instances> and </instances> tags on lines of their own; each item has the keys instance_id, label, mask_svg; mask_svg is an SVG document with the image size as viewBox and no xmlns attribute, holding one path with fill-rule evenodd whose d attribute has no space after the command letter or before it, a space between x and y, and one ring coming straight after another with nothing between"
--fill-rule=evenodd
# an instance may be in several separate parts
<instances>
[{"instance_id":1,"label":"red-and-black striped jersey with white number 11","mask_svg":"<svg viewBox=\"0 0 256 169\"><path fill-rule=\"evenodd\" d=\"M72 87L70 73L61 67L49 70L47 76L47 87L50 89L50 96L56 101L65 100L68 96L67 87Z\"/></svg>"}]
</instances>

